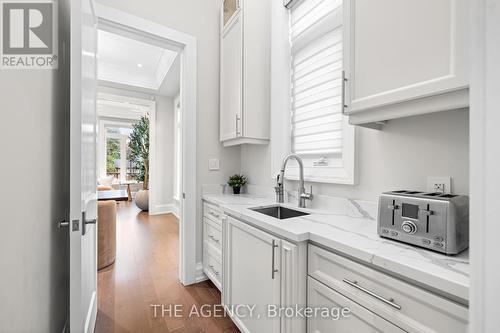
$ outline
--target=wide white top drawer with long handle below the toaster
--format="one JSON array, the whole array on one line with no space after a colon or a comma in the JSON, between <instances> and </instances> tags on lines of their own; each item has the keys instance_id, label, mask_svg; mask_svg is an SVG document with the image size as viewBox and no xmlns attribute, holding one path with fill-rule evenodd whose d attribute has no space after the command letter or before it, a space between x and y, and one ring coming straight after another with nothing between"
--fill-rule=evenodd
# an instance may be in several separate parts
<instances>
[{"instance_id":1,"label":"wide white top drawer with long handle below the toaster","mask_svg":"<svg viewBox=\"0 0 500 333\"><path fill-rule=\"evenodd\" d=\"M468 309L309 245L308 274L409 332L466 332Z\"/></svg>"}]
</instances>

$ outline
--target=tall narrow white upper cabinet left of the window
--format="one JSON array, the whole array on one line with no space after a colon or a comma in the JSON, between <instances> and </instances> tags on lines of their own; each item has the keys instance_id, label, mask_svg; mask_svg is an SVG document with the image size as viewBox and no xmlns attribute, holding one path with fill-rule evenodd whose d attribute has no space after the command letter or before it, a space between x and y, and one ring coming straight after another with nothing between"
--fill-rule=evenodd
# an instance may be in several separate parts
<instances>
[{"instance_id":1,"label":"tall narrow white upper cabinet left of the window","mask_svg":"<svg viewBox=\"0 0 500 333\"><path fill-rule=\"evenodd\" d=\"M220 140L269 141L271 8L268 0L224 0L220 32Z\"/></svg>"}]
</instances>

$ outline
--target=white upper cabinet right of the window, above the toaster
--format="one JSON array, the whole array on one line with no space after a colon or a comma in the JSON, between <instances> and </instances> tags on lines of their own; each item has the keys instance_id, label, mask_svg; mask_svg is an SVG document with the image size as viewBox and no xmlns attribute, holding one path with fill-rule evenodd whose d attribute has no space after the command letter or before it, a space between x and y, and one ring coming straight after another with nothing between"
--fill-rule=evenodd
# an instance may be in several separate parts
<instances>
[{"instance_id":1,"label":"white upper cabinet right of the window, above the toaster","mask_svg":"<svg viewBox=\"0 0 500 333\"><path fill-rule=\"evenodd\" d=\"M344 0L353 124L468 107L465 0Z\"/></svg>"}]
</instances>

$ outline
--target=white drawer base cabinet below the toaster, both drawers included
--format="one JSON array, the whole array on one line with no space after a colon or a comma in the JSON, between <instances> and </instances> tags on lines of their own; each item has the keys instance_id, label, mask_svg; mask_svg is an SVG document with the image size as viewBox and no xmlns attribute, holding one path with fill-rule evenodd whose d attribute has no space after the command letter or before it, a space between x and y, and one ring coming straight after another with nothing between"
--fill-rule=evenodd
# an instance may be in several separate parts
<instances>
[{"instance_id":1,"label":"white drawer base cabinet below the toaster, both drawers included","mask_svg":"<svg viewBox=\"0 0 500 333\"><path fill-rule=\"evenodd\" d=\"M344 304L349 304L356 318L354 322L364 320L365 324L377 329L357 330L358 326L353 326L353 329L350 325L355 323L347 324L350 320L341 319L330 324L336 328L336 333L467 332L469 311L464 305L315 245L309 244L308 257L308 305L325 305L322 303L328 297L335 302L342 300ZM341 323L343 321L345 324ZM400 330L387 329L386 322ZM310 328L321 325L326 324L317 322L317 319L308 323ZM309 329L309 332L323 331Z\"/></svg>"}]
</instances>

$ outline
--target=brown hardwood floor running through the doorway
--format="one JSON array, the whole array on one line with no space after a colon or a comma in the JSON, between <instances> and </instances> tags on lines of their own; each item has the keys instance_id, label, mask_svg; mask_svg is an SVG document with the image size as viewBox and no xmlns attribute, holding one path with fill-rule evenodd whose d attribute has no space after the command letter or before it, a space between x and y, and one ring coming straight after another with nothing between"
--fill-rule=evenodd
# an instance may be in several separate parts
<instances>
[{"instance_id":1,"label":"brown hardwood floor running through the doorway","mask_svg":"<svg viewBox=\"0 0 500 333\"><path fill-rule=\"evenodd\" d=\"M220 304L220 292L210 281L179 282L177 218L149 216L128 202L117 209L116 262L98 274L96 333L239 332L229 317L188 316L201 313L201 305ZM173 316L175 304L182 307L180 318ZM172 316L162 316L162 305Z\"/></svg>"}]
</instances>

